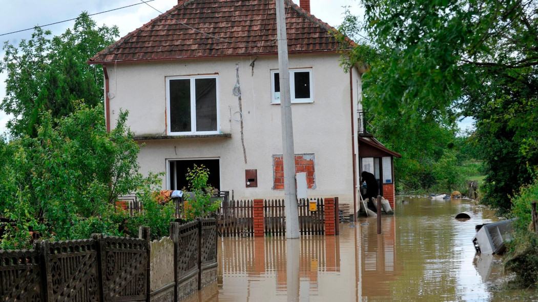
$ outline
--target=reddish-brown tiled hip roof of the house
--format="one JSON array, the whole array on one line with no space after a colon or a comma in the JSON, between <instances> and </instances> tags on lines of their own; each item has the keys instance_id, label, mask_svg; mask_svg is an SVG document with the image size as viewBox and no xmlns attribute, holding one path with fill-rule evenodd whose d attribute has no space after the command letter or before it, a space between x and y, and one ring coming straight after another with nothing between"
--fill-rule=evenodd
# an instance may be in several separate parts
<instances>
[{"instance_id":1,"label":"reddish-brown tiled hip roof of the house","mask_svg":"<svg viewBox=\"0 0 538 302\"><path fill-rule=\"evenodd\" d=\"M285 2L289 53L336 51L333 27ZM275 0L183 0L88 62L276 54L275 19Z\"/></svg>"}]
</instances>

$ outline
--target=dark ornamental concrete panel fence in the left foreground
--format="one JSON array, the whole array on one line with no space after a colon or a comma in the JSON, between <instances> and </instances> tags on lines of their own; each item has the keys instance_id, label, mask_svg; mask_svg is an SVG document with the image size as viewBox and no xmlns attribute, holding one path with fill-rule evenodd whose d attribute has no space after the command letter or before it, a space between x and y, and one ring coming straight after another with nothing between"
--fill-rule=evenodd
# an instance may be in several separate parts
<instances>
[{"instance_id":1,"label":"dark ornamental concrete panel fence in the left foreground","mask_svg":"<svg viewBox=\"0 0 538 302\"><path fill-rule=\"evenodd\" d=\"M173 222L170 236L153 242L140 227L139 238L93 234L0 250L1 300L179 301L217 279L216 225L211 218Z\"/></svg>"}]
</instances>

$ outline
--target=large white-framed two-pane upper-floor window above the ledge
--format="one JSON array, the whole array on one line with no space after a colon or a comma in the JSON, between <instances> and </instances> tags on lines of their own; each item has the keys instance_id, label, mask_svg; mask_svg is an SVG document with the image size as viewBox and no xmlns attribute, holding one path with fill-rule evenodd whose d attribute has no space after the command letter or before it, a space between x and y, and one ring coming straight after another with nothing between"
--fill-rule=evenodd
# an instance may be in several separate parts
<instances>
[{"instance_id":1,"label":"large white-framed two-pane upper-floor window above the ledge","mask_svg":"<svg viewBox=\"0 0 538 302\"><path fill-rule=\"evenodd\" d=\"M166 77L168 135L218 133L217 75Z\"/></svg>"}]
</instances>

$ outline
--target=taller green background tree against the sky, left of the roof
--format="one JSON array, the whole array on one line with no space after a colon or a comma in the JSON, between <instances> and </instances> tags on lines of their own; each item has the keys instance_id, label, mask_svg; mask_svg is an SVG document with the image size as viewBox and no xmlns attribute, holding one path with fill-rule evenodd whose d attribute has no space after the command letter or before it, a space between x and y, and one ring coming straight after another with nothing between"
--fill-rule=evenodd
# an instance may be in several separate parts
<instances>
[{"instance_id":1,"label":"taller green background tree against the sky, left of the roof","mask_svg":"<svg viewBox=\"0 0 538 302\"><path fill-rule=\"evenodd\" d=\"M40 112L53 118L74 110L74 100L89 106L103 103L103 71L87 60L119 36L116 26L97 27L88 13L75 21L73 30L49 38L50 31L34 29L30 40L18 47L5 42L0 72L6 72L6 97L0 110L13 114L8 128L14 136L37 135Z\"/></svg>"}]
</instances>

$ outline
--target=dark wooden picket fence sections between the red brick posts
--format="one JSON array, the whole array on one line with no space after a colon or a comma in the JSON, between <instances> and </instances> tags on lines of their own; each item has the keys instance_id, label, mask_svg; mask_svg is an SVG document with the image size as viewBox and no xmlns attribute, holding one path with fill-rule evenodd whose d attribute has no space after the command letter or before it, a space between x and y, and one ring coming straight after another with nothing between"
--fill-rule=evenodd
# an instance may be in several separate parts
<instances>
[{"instance_id":1,"label":"dark wooden picket fence sections between the red brick posts","mask_svg":"<svg viewBox=\"0 0 538 302\"><path fill-rule=\"evenodd\" d=\"M299 205L299 230L301 235L323 235L324 202L315 199L317 211L309 210L308 201ZM253 200L231 200L218 212L218 231L221 236L254 236ZM264 200L264 232L268 236L286 235L286 214L284 200Z\"/></svg>"}]
</instances>

